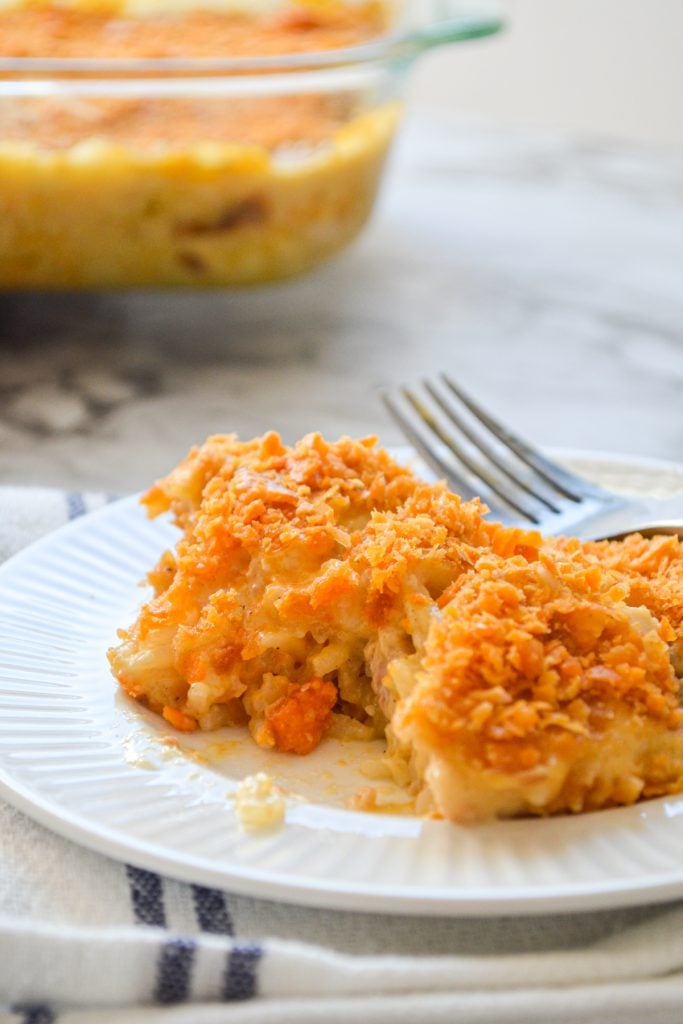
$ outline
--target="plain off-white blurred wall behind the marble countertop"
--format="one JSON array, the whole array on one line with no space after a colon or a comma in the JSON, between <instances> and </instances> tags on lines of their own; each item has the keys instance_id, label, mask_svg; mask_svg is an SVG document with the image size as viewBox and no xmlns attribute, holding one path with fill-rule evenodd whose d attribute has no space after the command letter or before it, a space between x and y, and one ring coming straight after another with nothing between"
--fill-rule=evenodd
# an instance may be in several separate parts
<instances>
[{"instance_id":1,"label":"plain off-white blurred wall behind the marble countertop","mask_svg":"<svg viewBox=\"0 0 683 1024\"><path fill-rule=\"evenodd\" d=\"M508 0L509 28L418 65L414 103L509 126L683 145L683 0Z\"/></svg>"}]
</instances>

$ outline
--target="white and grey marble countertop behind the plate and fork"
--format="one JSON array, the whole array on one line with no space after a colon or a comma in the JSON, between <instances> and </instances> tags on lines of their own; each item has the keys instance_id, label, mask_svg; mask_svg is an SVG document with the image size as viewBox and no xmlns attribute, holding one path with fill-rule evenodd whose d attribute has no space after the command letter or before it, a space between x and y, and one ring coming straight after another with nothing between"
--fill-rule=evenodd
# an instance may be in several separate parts
<instances>
[{"instance_id":1,"label":"white and grey marble countertop behind the plate and fork","mask_svg":"<svg viewBox=\"0 0 683 1024\"><path fill-rule=\"evenodd\" d=\"M130 492L208 433L398 433L450 371L532 440L683 459L683 157L409 118L361 239L240 293L0 294L0 482Z\"/></svg>"}]
</instances>

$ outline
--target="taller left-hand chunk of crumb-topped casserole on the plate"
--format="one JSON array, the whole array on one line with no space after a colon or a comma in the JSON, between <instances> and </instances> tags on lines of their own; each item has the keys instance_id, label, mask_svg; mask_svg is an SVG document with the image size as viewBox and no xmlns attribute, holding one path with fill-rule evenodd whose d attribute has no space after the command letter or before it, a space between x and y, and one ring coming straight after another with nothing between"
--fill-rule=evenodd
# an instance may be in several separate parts
<instances>
[{"instance_id":1,"label":"taller left-hand chunk of crumb-topped casserole on the plate","mask_svg":"<svg viewBox=\"0 0 683 1024\"><path fill-rule=\"evenodd\" d=\"M246 443L218 435L193 450L143 498L184 535L112 652L124 688L203 728L230 721L240 700L266 745L278 742L268 709L321 676L373 719L365 646L378 617L402 617L399 578L416 560L393 566L391 590L373 517L402 508L417 486L374 438L310 434L290 449L272 433Z\"/></svg>"}]
</instances>

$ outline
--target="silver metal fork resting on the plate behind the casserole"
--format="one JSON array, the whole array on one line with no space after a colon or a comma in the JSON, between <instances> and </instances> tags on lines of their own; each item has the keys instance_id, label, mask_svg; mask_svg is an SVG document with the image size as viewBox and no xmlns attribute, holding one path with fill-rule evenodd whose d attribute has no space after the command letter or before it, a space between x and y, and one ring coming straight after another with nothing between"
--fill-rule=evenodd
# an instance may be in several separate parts
<instances>
[{"instance_id":1,"label":"silver metal fork resting on the plate behind the casserole","mask_svg":"<svg viewBox=\"0 0 683 1024\"><path fill-rule=\"evenodd\" d=\"M585 539L683 531L683 496L630 499L560 466L512 433L440 374L420 390L382 395L405 437L463 498L480 497L506 523Z\"/></svg>"}]
</instances>

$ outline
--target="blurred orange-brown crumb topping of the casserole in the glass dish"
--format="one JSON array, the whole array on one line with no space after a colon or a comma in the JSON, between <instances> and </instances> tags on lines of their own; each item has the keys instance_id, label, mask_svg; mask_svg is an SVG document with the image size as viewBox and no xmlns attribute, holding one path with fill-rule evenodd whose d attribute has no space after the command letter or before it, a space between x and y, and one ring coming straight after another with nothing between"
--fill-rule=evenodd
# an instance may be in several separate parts
<instances>
[{"instance_id":1,"label":"blurred orange-brown crumb topping of the casserole in the glass dish","mask_svg":"<svg viewBox=\"0 0 683 1024\"><path fill-rule=\"evenodd\" d=\"M184 10L134 16L125 3L96 6L18 3L0 7L0 57L141 59L254 57L319 52L353 46L385 27L382 4L298 0L269 12ZM29 141L47 151L68 151L84 138L145 151L163 144L187 147L202 142L278 146L332 138L352 116L347 96L309 94L259 96L226 102L191 98L88 96L6 102L0 110L3 142ZM188 221L179 233L199 236L259 223L267 215L256 201L232 210L229 221L211 225Z\"/></svg>"}]
</instances>

